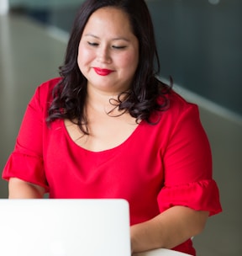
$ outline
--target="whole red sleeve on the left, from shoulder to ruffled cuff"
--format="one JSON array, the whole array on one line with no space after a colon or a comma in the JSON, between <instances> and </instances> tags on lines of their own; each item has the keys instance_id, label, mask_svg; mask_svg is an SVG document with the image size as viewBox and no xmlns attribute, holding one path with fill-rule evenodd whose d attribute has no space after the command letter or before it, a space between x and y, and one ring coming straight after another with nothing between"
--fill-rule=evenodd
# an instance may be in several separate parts
<instances>
[{"instance_id":1,"label":"whole red sleeve on the left, from shoulder to ruffled cuff","mask_svg":"<svg viewBox=\"0 0 242 256\"><path fill-rule=\"evenodd\" d=\"M3 169L3 179L23 179L48 190L42 148L45 113L39 96L40 90L40 87L36 89L25 111L14 150Z\"/></svg>"}]
</instances>

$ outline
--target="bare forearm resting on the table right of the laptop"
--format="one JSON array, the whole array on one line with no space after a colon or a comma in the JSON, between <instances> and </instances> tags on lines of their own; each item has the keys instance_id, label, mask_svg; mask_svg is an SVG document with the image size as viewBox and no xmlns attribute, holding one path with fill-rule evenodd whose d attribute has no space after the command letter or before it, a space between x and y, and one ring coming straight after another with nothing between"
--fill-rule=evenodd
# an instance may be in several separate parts
<instances>
[{"instance_id":1,"label":"bare forearm resting on the table right of the laptop","mask_svg":"<svg viewBox=\"0 0 242 256\"><path fill-rule=\"evenodd\" d=\"M155 248L174 248L203 231L208 211L173 206L150 221L130 228L132 253Z\"/></svg>"}]
</instances>

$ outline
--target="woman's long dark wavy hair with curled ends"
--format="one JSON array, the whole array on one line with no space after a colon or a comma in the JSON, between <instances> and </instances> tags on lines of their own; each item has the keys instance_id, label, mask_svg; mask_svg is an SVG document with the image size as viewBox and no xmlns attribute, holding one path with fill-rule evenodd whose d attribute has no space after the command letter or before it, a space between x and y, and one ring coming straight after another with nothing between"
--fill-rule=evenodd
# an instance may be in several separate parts
<instances>
[{"instance_id":1,"label":"woman's long dark wavy hair with curled ends","mask_svg":"<svg viewBox=\"0 0 242 256\"><path fill-rule=\"evenodd\" d=\"M66 48L66 59L63 66L60 66L62 79L53 90L54 99L48 111L47 122L49 124L56 119L68 119L73 122L77 120L76 125L84 134L88 134L87 116L85 115L87 79L77 64L78 46L89 17L97 9L105 7L119 8L127 13L133 33L139 40L139 64L133 83L128 92L119 94L115 107L123 113L128 112L137 123L140 120L150 123L150 115L153 111L167 109L169 105L165 94L169 92L172 80L171 86L167 86L156 77L160 72L160 61L150 11L145 1L87 0L76 14L71 30ZM158 96L163 100L157 101Z\"/></svg>"}]
</instances>

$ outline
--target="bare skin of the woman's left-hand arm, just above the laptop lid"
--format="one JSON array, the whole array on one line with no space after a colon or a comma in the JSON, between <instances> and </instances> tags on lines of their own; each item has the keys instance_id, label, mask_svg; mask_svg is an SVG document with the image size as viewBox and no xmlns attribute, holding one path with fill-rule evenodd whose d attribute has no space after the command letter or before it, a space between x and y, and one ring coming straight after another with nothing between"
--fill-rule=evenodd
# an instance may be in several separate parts
<instances>
[{"instance_id":1,"label":"bare skin of the woman's left-hand arm, just above the laptop lid","mask_svg":"<svg viewBox=\"0 0 242 256\"><path fill-rule=\"evenodd\" d=\"M8 183L8 198L9 199L34 199L43 198L45 189L25 182L22 179L11 178Z\"/></svg>"}]
</instances>

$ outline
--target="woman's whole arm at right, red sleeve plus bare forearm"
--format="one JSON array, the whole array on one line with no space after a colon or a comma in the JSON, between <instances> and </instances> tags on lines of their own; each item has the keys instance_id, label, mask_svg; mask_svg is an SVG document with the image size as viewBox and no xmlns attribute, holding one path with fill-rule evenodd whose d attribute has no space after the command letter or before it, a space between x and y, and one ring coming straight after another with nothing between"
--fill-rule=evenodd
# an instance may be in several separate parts
<instances>
[{"instance_id":1,"label":"woman's whole arm at right, red sleeve plus bare forearm","mask_svg":"<svg viewBox=\"0 0 242 256\"><path fill-rule=\"evenodd\" d=\"M179 104L179 100L175 101ZM160 133L169 139L161 154L166 180L157 201L162 213L130 228L133 253L174 248L203 231L208 211L210 215L221 211L218 188L213 182L211 148L197 106L179 104L170 112L170 125L163 119L169 133Z\"/></svg>"}]
</instances>

